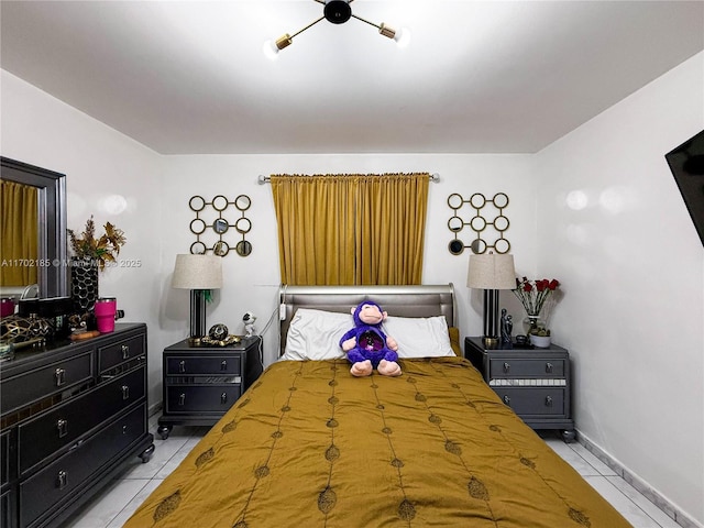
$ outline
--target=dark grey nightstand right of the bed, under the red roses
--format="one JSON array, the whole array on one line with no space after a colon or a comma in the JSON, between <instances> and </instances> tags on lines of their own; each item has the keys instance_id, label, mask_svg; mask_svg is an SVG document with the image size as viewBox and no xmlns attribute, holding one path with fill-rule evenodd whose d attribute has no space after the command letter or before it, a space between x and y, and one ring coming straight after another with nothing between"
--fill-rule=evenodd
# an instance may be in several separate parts
<instances>
[{"instance_id":1,"label":"dark grey nightstand right of the bed, under the red roses","mask_svg":"<svg viewBox=\"0 0 704 528\"><path fill-rule=\"evenodd\" d=\"M464 339L464 356L484 381L532 429L560 429L574 440L570 402L570 354L562 346L487 349L482 338Z\"/></svg>"}]
</instances>

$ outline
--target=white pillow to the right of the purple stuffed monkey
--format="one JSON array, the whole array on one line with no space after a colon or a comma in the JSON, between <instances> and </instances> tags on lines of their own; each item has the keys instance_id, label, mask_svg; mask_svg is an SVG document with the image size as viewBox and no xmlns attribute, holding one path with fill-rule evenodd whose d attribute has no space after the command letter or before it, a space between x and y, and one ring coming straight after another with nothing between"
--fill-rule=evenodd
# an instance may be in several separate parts
<instances>
[{"instance_id":1,"label":"white pillow to the right of the purple stuffed monkey","mask_svg":"<svg viewBox=\"0 0 704 528\"><path fill-rule=\"evenodd\" d=\"M384 333L398 343L398 358L442 358L457 355L450 344L444 316L388 316L382 324Z\"/></svg>"}]
</instances>

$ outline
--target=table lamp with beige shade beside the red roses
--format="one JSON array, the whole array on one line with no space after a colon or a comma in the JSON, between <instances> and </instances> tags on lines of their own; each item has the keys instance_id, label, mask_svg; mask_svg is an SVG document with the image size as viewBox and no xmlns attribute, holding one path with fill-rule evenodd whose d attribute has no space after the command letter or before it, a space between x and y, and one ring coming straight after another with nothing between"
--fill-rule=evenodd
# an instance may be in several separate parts
<instances>
[{"instance_id":1,"label":"table lamp with beige shade beside the red roses","mask_svg":"<svg viewBox=\"0 0 704 528\"><path fill-rule=\"evenodd\" d=\"M514 255L493 252L470 255L466 287L484 290L484 345L496 346L501 331L498 290L516 287Z\"/></svg>"}]
</instances>

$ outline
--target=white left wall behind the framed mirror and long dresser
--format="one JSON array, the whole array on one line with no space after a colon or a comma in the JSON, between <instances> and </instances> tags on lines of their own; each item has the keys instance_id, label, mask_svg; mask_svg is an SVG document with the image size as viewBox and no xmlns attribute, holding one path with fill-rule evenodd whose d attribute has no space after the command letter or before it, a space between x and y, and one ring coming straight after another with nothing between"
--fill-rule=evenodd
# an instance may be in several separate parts
<instances>
[{"instance_id":1,"label":"white left wall behind the framed mirror and long dresser","mask_svg":"<svg viewBox=\"0 0 704 528\"><path fill-rule=\"evenodd\" d=\"M0 82L0 153L66 175L69 229L81 232L94 215L99 233L106 221L125 232L119 260L139 265L107 268L99 293L118 298L124 321L148 324L151 403L161 399L161 156L11 74L2 72Z\"/></svg>"}]
</instances>

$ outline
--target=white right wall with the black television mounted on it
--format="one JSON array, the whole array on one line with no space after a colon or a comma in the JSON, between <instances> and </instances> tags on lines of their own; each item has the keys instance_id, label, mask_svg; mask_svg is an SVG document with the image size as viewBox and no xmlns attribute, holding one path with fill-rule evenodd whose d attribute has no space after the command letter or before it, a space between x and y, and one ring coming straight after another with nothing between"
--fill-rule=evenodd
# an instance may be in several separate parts
<instances>
[{"instance_id":1,"label":"white right wall with the black television mounted on it","mask_svg":"<svg viewBox=\"0 0 704 528\"><path fill-rule=\"evenodd\" d=\"M704 129L698 54L536 156L580 431L704 524L704 250L664 154Z\"/></svg>"}]
</instances>

